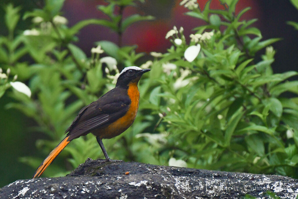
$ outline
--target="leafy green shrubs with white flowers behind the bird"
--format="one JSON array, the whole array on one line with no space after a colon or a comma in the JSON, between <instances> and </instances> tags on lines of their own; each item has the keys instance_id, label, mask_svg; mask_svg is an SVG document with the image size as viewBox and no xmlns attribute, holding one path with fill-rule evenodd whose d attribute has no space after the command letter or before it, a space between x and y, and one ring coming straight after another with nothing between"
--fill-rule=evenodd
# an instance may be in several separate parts
<instances>
[{"instance_id":1,"label":"leafy green shrubs with white flowers behind the bird","mask_svg":"<svg viewBox=\"0 0 298 199\"><path fill-rule=\"evenodd\" d=\"M48 136L36 141L44 157L64 138L80 108L114 87L123 66L139 65L151 68L139 83L139 112L125 133L104 140L111 158L168 165L173 157L192 168L298 178L298 98L283 97L285 92L298 93L298 81L288 80L297 72L273 74L275 51L269 45L280 39L263 41L260 30L252 27L256 19L240 21L249 8L235 15L237 0L221 0L224 10L210 9L211 1L204 9L186 2L190 9L186 14L206 25L194 27L196 33L190 36L174 27L166 36L173 44L168 52L152 52L152 60L142 63L139 58L144 54L136 53L136 46L95 41L99 46L87 57L74 43L76 34L89 24L109 27L121 41L129 25L152 20L152 16L114 14L115 6L123 10L134 1L108 1L98 6L108 20L86 19L72 27L60 16L63 2L46 0L44 7L23 16L19 7L7 5L9 32L0 36L1 68L10 68L32 92L31 98L8 92L15 102L6 108L34 119L31 130ZM18 21L28 18L30 30L15 33ZM257 57L260 51L264 53ZM23 56L30 61L21 61ZM10 81L15 79L1 79L3 94ZM103 158L92 135L72 141L57 158L70 164L54 161L44 176L65 175L88 157ZM43 159L20 161L35 169Z\"/></svg>"}]
</instances>

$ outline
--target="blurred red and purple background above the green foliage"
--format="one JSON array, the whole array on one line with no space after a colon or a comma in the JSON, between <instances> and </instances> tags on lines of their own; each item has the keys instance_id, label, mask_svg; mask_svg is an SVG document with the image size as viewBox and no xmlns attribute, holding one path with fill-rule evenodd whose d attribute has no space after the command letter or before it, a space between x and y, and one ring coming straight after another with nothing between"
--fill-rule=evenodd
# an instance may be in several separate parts
<instances>
[{"instance_id":1,"label":"blurred red and purple background above the green foliage","mask_svg":"<svg viewBox=\"0 0 298 199\"><path fill-rule=\"evenodd\" d=\"M139 13L141 15L153 15L154 21L142 21L129 27L122 36L123 45L137 44L137 52L166 52L170 47L170 42L165 40L166 33L173 28L183 27L185 35L193 33L194 27L204 24L204 21L184 15L188 10L180 6L180 0L176 1L146 1L145 4L138 4L138 7L127 7L124 10L124 17ZM201 9L204 8L207 0L198 0ZM64 16L69 19L69 25L72 26L78 21L87 18L107 18L103 13L97 10L97 5L107 4L105 1L84 1L84 0L66 0L63 7ZM210 4L212 9L224 9L220 1L215 0ZM260 18L260 8L257 1L240 0L236 7L236 13L245 7L252 7L242 16L242 19ZM117 8L115 9L117 13ZM260 23L257 24L259 26ZM108 34L107 34L108 33ZM108 28L90 25L80 31L80 41L78 46L88 52L94 46L94 41L109 40L118 43L116 33Z\"/></svg>"}]
</instances>

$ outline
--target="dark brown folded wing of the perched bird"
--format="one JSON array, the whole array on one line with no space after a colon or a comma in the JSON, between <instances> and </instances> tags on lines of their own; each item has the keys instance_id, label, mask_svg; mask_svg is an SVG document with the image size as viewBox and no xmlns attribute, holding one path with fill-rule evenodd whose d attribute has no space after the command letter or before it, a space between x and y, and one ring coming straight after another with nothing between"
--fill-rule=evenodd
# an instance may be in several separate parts
<instances>
[{"instance_id":1,"label":"dark brown folded wing of the perched bird","mask_svg":"<svg viewBox=\"0 0 298 199\"><path fill-rule=\"evenodd\" d=\"M66 130L67 141L86 135L92 129L100 128L121 118L127 112L131 100L125 89L114 88L80 110L79 114Z\"/></svg>"}]
</instances>

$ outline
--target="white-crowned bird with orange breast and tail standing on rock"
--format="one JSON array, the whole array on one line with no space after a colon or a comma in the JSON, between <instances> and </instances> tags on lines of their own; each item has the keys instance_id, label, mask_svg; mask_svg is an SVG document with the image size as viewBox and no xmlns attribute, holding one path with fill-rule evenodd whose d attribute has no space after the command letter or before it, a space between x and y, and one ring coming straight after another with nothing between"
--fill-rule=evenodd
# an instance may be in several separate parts
<instances>
[{"instance_id":1,"label":"white-crowned bird with orange breast and tail standing on rock","mask_svg":"<svg viewBox=\"0 0 298 199\"><path fill-rule=\"evenodd\" d=\"M39 177L70 141L88 133L96 136L105 156L103 161L113 161L109 158L102 139L120 135L134 122L139 108L138 82L148 71L150 69L141 69L136 66L125 67L117 78L115 88L80 110L72 124L66 129L66 137L40 164L32 178Z\"/></svg>"}]
</instances>

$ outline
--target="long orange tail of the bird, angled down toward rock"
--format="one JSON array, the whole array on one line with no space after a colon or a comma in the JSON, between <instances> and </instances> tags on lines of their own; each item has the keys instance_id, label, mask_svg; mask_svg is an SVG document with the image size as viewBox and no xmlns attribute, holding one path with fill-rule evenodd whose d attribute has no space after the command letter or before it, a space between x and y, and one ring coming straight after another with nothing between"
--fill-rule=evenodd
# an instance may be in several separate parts
<instances>
[{"instance_id":1,"label":"long orange tail of the bird, angled down toward rock","mask_svg":"<svg viewBox=\"0 0 298 199\"><path fill-rule=\"evenodd\" d=\"M56 156L64 149L64 147L70 142L67 141L67 138L69 136L67 136L66 138L64 138L60 144L58 144L58 146L55 147L55 149L53 149L50 154L48 155L48 157L46 157L46 159L38 166L38 168L36 169L34 175L32 178L36 178L39 177L44 170L46 170L46 167L48 167L50 165L50 163L56 158Z\"/></svg>"}]
</instances>

